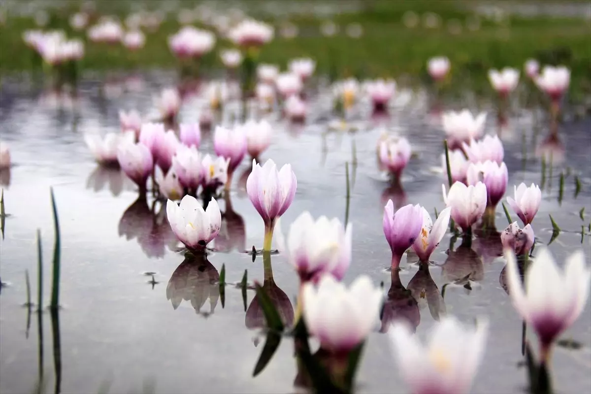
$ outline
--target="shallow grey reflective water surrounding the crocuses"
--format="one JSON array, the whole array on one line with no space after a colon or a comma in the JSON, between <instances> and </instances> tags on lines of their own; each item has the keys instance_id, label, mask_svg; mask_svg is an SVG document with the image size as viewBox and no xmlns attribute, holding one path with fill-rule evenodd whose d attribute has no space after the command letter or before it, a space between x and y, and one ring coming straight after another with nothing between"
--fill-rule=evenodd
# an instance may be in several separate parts
<instances>
[{"instance_id":1,"label":"shallow grey reflective water surrounding the crocuses","mask_svg":"<svg viewBox=\"0 0 591 394\"><path fill-rule=\"evenodd\" d=\"M57 346L50 313L41 315L40 368L38 315L33 311L28 328L27 308L22 306L27 301L25 270L30 275L33 302L37 299L35 230L38 228L43 237L45 262L44 305L50 297L51 186L61 227L62 392L297 390L293 386L296 359L289 338L282 341L267 369L252 377L265 340L258 330L247 328L260 325L260 318L256 321L256 305L245 312L241 290L228 285L222 306L216 285L223 264L228 283L241 281L245 269L249 284L263 280L262 259L258 257L253 263L252 256L243 253L253 245L260 248L263 239L262 221L244 190L246 177L242 175L248 174L249 160L245 159L237 170L230 195L233 213L226 213L225 229L215 243L218 249L232 250L211 253L210 265L198 267L183 263L184 256L174 252L174 235L165 221L164 211L160 211L161 206L155 206L160 215L153 217L152 201L136 201L134 185L119 171L98 168L83 142L85 132L118 130L119 108L150 112L152 94L171 82L172 76L147 75L142 83L136 79L135 84L122 91L112 87L109 95L118 96L105 98L98 93L100 83L88 80L82 83L80 98L74 106L67 100L61 100L60 104L47 94L26 89L26 84L4 82L0 93L0 130L2 139L11 146L14 167L9 174L9 185L4 186L9 216L0 242L0 273L2 281L8 283L0 294L0 392L33 392L40 370L45 390L56 389L54 349ZM313 100L324 103L326 100L320 96ZM353 223L354 237L353 262L346 282L366 273L374 282L384 282L384 293L390 288L391 275L385 270L390 252L381 226L382 210L388 198L393 198L398 206L419 203L431 211L433 207L443 209L444 177L433 170L440 165L443 132L434 121L437 116L433 115L427 98L423 90L402 90L389 119L380 121L381 126L376 126L375 120L363 121L363 113L353 116L351 122L360 128L355 133L326 133L331 117L323 105L314 106L312 119L303 128L274 121L277 135L262 159L273 158L278 165L291 163L298 177L294 203L281 219L283 233L287 234L290 223L303 210L311 211L314 216L324 214L344 219L345 162L349 162L352 184L349 221ZM466 98L466 102L469 100ZM514 115L501 132L510 174L508 192L521 181L540 183L540 160L534 152L549 129L539 110L523 109L519 101L514 103L517 106ZM457 109L462 104L444 102L440 108ZM195 120L199 105L194 100L186 103L180 119ZM496 132L492 105L485 102L481 109L489 112L487 131ZM382 128L405 135L417 153L405 170L403 191L389 187L376 166L375 144ZM581 240L580 234L581 226L589 224L591 212L590 128L588 117L574 120L565 116L560 138L568 155L563 164L554 166L551 177L546 175L543 203L534 220L538 243L550 241L548 214L564 230L550 245L558 261L563 261L576 248L583 248L587 262L591 260L591 238L586 235ZM202 141L202 150L211 151L211 134L203 135ZM352 162L353 141L356 165ZM567 167L570 170L559 204L558 176L560 169ZM575 176L582 183L577 198L574 198ZM4 172L3 184L7 183L7 177ZM223 210L227 210L226 204L220 203ZM584 221L579 218L582 207L586 212ZM506 226L501 207L497 209L496 224L499 230ZM275 230L275 241L281 238L278 230ZM454 248L459 244L458 240ZM445 311L463 321L488 317L488 346L473 392L519 392L525 386L525 370L518 367L522 360L522 323L499 282L504 266L503 259L498 258L500 241L496 237L476 238L472 250L459 248L446 255L448 246L449 236L432 256L441 266L431 266L428 272L418 271L417 265L403 259L400 282L404 287L394 283L385 315L413 322L420 336ZM272 271L275 284L287 296L281 298L281 305L289 315L290 308L295 307L297 276L284 253L272 256ZM146 272L154 272L153 277ZM465 288L466 283L471 290ZM441 297L444 286L444 297ZM254 291L249 289L247 308L253 298ZM582 349L557 347L553 353L556 392L591 390L590 319L587 305L579 320L564 334L564 338L581 343ZM388 327L385 322L382 331ZM378 330L376 327L366 344L358 391L405 392L388 338ZM527 335L535 343L535 334Z\"/></svg>"}]
</instances>

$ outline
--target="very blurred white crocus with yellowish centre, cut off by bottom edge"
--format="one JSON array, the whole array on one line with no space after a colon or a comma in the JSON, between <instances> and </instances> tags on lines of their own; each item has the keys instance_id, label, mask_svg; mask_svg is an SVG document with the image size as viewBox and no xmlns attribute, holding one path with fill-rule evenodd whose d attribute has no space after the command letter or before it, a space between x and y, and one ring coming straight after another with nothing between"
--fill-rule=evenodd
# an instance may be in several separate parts
<instances>
[{"instance_id":1,"label":"very blurred white crocus with yellowish centre, cut off by bottom edge","mask_svg":"<svg viewBox=\"0 0 591 394\"><path fill-rule=\"evenodd\" d=\"M427 346L406 323L389 331L398 369L412 394L458 394L470 386L486 347L488 321L465 327L454 317L436 323Z\"/></svg>"}]
</instances>

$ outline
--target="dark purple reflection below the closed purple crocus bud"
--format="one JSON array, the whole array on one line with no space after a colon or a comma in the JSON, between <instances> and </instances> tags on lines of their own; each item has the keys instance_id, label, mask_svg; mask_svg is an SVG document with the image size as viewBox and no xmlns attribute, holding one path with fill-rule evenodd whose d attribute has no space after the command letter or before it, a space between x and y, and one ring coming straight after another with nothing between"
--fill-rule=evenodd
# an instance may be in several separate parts
<instances>
[{"instance_id":1,"label":"dark purple reflection below the closed purple crocus bud","mask_svg":"<svg viewBox=\"0 0 591 394\"><path fill-rule=\"evenodd\" d=\"M413 293L402 286L400 282L400 270L393 268L391 271L392 283L388 290L388 298L384 302L382 311L382 327L379 332L387 333L390 326L398 320L407 321L413 331L417 330L421 323L421 314L418 310L417 300Z\"/></svg>"}]
</instances>

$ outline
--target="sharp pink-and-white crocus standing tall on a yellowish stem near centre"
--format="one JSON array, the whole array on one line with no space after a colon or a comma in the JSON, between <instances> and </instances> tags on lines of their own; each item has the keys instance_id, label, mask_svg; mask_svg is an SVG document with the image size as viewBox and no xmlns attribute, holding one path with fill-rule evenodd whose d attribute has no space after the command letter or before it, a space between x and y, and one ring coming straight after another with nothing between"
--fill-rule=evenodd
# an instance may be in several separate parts
<instances>
[{"instance_id":1,"label":"sharp pink-and-white crocus standing tall on a yellowish stem near centre","mask_svg":"<svg viewBox=\"0 0 591 394\"><path fill-rule=\"evenodd\" d=\"M252 160L252 172L246 180L246 193L265 223L263 250L271 249L275 221L290 207L297 189L296 174L285 164L277 171L275 162L268 159L261 167Z\"/></svg>"}]
</instances>

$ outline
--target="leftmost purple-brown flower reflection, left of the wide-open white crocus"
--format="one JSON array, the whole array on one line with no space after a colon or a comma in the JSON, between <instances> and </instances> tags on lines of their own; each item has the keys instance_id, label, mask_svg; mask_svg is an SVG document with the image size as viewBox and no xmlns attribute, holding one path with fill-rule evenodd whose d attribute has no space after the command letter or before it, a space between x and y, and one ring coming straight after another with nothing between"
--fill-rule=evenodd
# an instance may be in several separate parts
<instances>
[{"instance_id":1,"label":"leftmost purple-brown flower reflection, left of the wide-open white crocus","mask_svg":"<svg viewBox=\"0 0 591 394\"><path fill-rule=\"evenodd\" d=\"M142 251L148 257L161 258L164 256L165 246L174 250L177 238L166 219L164 204L155 213L155 203L148 206L144 196L139 196L119 220L119 236L126 240L137 239Z\"/></svg>"}]
</instances>

